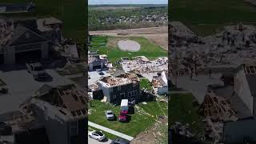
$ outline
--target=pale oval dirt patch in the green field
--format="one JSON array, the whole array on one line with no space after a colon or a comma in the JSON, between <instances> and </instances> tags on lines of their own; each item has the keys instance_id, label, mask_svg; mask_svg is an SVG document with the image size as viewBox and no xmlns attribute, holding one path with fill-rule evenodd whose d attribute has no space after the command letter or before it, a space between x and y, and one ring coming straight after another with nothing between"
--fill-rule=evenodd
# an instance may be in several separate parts
<instances>
[{"instance_id":1,"label":"pale oval dirt patch in the green field","mask_svg":"<svg viewBox=\"0 0 256 144\"><path fill-rule=\"evenodd\" d=\"M138 42L131 40L118 41L118 47L120 50L131 52L135 52L141 49L141 45Z\"/></svg>"}]
</instances>

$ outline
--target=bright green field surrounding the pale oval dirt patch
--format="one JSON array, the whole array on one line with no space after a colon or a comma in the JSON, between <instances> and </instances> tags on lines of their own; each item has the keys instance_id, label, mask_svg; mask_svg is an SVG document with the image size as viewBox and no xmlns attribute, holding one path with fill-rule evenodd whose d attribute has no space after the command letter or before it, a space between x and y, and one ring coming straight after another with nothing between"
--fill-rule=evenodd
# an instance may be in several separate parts
<instances>
[{"instance_id":1,"label":"bright green field surrounding the pale oval dirt patch","mask_svg":"<svg viewBox=\"0 0 256 144\"><path fill-rule=\"evenodd\" d=\"M130 39L138 42L141 45L141 50L137 52L127 52L118 49L116 43L118 39ZM129 38L118 38L118 37L108 37L107 38L107 47L106 48L98 48L99 54L106 54L110 60L110 62L116 62L120 60L122 57L136 57L136 56L146 56L149 59L155 59L158 57L167 57L167 51L163 50L160 46L155 45L150 42L146 38L142 37L129 37ZM94 48L90 48L90 50Z\"/></svg>"}]
</instances>

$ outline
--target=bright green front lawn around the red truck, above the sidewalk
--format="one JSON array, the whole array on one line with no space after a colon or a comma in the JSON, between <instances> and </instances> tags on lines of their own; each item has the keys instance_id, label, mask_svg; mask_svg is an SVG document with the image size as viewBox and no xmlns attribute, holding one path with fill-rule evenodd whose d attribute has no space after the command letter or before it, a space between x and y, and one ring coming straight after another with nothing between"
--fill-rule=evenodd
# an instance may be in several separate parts
<instances>
[{"instance_id":1,"label":"bright green front lawn around the red truck, above the sidewalk","mask_svg":"<svg viewBox=\"0 0 256 144\"><path fill-rule=\"evenodd\" d=\"M146 130L146 128L153 126L155 118L157 118L158 115L168 114L167 105L167 103L163 102L147 102L146 105L141 103L138 105L139 108L135 109L135 114L130 114L130 122L123 123L118 121L107 121L105 117L104 110L112 110L118 117L120 110L119 106L113 106L110 103L93 100L93 107L90 107L91 114L89 115L89 121L134 137L143 130ZM161 106L161 108L159 106Z\"/></svg>"}]
</instances>

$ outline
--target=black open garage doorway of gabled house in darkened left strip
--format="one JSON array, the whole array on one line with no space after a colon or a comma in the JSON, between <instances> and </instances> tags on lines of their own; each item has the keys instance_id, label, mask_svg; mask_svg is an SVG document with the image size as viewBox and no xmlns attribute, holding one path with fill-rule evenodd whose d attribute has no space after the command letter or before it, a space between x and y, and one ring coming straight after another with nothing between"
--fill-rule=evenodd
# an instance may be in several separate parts
<instances>
[{"instance_id":1,"label":"black open garage doorway of gabled house in darkened left strip","mask_svg":"<svg viewBox=\"0 0 256 144\"><path fill-rule=\"evenodd\" d=\"M15 54L15 60L17 64L25 64L30 61L40 61L41 50L31 50L26 52L20 52Z\"/></svg>"}]
</instances>

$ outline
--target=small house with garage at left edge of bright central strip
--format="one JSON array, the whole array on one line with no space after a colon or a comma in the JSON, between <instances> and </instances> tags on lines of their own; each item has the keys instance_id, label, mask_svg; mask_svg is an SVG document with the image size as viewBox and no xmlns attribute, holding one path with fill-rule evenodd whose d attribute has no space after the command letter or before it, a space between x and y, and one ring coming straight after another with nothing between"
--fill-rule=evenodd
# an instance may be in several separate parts
<instances>
[{"instance_id":1,"label":"small house with garage at left edge of bright central strip","mask_svg":"<svg viewBox=\"0 0 256 144\"><path fill-rule=\"evenodd\" d=\"M100 59L99 56L92 56L88 58L89 70L103 69L106 67L106 59Z\"/></svg>"}]
</instances>

